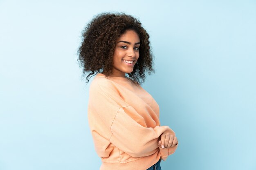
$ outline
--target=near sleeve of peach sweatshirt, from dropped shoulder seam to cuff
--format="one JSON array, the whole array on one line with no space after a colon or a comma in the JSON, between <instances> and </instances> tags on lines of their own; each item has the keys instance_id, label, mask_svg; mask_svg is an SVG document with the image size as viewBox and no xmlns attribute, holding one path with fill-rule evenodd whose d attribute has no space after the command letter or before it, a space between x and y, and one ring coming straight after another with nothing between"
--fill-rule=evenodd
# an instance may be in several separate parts
<instances>
[{"instance_id":1,"label":"near sleeve of peach sweatshirt, from dropped shoulder seam to cuff","mask_svg":"<svg viewBox=\"0 0 256 170\"><path fill-rule=\"evenodd\" d=\"M135 111L131 106L126 108ZM143 127L120 108L111 126L110 142L132 157L145 157L157 150L159 136L168 129L168 126Z\"/></svg>"}]
</instances>

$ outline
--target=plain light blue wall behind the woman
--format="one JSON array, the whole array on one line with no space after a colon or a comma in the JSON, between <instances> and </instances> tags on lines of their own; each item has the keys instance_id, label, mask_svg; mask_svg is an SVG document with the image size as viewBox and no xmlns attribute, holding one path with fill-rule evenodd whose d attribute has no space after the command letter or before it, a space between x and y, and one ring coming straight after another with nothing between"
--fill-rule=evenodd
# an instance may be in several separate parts
<instances>
[{"instance_id":1,"label":"plain light blue wall behind the woman","mask_svg":"<svg viewBox=\"0 0 256 170\"><path fill-rule=\"evenodd\" d=\"M76 51L103 11L150 34L143 87L179 140L162 170L255 170L254 0L0 0L0 170L99 169Z\"/></svg>"}]
</instances>

